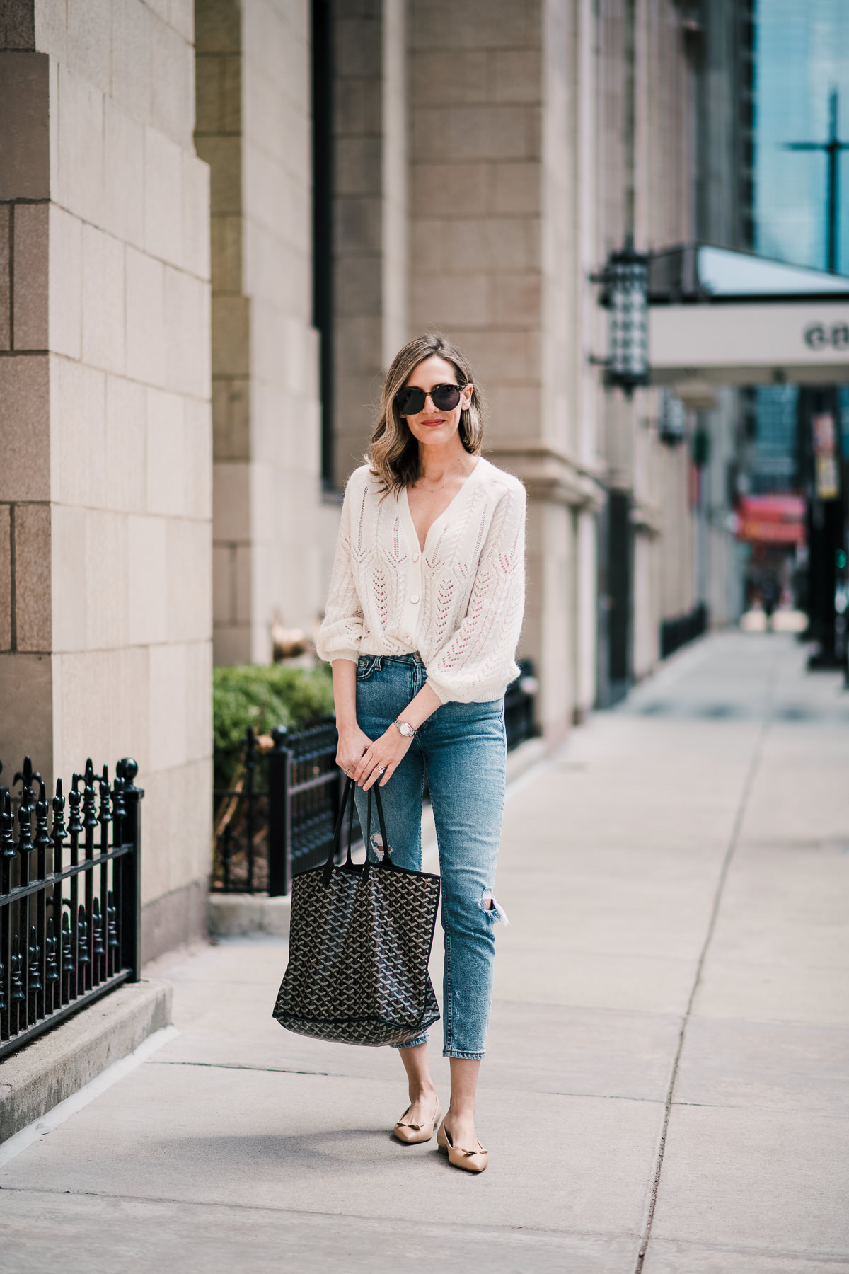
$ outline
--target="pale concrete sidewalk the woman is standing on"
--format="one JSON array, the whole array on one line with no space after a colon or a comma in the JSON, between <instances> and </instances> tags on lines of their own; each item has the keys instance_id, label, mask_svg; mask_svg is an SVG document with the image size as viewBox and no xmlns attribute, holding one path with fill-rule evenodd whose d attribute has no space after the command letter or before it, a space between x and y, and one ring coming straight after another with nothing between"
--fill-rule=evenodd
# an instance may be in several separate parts
<instances>
[{"instance_id":1,"label":"pale concrete sidewalk the woman is standing on","mask_svg":"<svg viewBox=\"0 0 849 1274\"><path fill-rule=\"evenodd\" d=\"M712 637L513 786L482 1177L391 1139L389 1050L271 1020L285 944L229 940L0 1168L4 1266L849 1270L849 694L803 661Z\"/></svg>"}]
</instances>

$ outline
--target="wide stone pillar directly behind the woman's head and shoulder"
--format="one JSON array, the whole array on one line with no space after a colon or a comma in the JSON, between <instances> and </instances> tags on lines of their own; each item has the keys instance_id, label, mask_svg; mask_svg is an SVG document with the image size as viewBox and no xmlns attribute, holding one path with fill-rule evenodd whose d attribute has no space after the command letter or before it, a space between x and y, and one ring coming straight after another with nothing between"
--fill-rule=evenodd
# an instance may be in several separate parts
<instances>
[{"instance_id":1,"label":"wide stone pillar directly behind the woman's head and shoulder","mask_svg":"<svg viewBox=\"0 0 849 1274\"><path fill-rule=\"evenodd\" d=\"M582 410L594 298L580 273L582 218L594 209L577 181L588 89L575 79L593 28L580 9L583 25L566 0L417 0L409 55L411 326L468 352L489 404L488 455L528 489L519 652L538 669L551 741L594 688L600 488Z\"/></svg>"}]
</instances>

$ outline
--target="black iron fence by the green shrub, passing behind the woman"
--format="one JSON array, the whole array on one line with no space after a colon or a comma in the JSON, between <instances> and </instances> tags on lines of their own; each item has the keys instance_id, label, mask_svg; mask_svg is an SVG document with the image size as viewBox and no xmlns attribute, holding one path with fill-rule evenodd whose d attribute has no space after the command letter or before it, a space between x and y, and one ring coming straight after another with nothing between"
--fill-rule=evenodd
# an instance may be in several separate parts
<instances>
[{"instance_id":1,"label":"black iron fence by the green shrub, passing behind the woman","mask_svg":"<svg viewBox=\"0 0 849 1274\"><path fill-rule=\"evenodd\" d=\"M530 660L504 699L507 745L537 733L536 678ZM291 878L327 857L342 795L336 766L336 720L323 717L302 730L255 735L248 729L242 761L229 787L215 789L214 891L288 893ZM359 819L355 843L361 841Z\"/></svg>"}]
</instances>

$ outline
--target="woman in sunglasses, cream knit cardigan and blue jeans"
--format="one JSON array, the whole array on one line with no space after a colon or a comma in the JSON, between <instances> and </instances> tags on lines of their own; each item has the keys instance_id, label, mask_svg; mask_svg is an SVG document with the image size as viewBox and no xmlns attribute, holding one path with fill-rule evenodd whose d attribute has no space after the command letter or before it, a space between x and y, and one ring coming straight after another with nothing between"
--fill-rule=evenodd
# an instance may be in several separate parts
<instances>
[{"instance_id":1,"label":"woman in sunglasses, cream knit cardigan and blue jeans","mask_svg":"<svg viewBox=\"0 0 849 1274\"><path fill-rule=\"evenodd\" d=\"M421 868L426 772L442 873L444 1056L451 1105L437 1140L482 1172L475 1091L493 987L493 896L504 806L504 691L518 675L524 488L480 455L481 405L460 350L419 336L383 386L368 464L347 483L318 634L333 666L337 764L379 781L392 861ZM373 838L379 846L379 837ZM370 852L375 852L370 847ZM410 1106L395 1125L429 1142L442 1111L426 1034L401 1050Z\"/></svg>"}]
</instances>

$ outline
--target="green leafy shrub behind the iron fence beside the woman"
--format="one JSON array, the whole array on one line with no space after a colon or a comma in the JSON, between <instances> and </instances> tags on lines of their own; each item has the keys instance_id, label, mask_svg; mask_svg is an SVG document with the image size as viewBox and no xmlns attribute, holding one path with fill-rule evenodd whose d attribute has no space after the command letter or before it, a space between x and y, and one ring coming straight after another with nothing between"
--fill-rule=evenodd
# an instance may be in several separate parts
<instances>
[{"instance_id":1,"label":"green leafy shrub behind the iron fence beside the woman","mask_svg":"<svg viewBox=\"0 0 849 1274\"><path fill-rule=\"evenodd\" d=\"M215 786L228 787L249 725L255 734L288 730L333 711L330 665L314 670L237 664L213 670Z\"/></svg>"}]
</instances>

